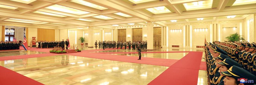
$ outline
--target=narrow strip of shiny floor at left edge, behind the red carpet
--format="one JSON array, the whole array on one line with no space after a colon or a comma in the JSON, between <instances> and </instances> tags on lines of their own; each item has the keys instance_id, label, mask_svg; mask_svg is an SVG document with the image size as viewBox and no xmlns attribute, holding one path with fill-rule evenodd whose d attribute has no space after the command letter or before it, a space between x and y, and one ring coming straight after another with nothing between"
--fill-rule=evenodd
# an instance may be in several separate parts
<instances>
[{"instance_id":1,"label":"narrow strip of shiny floor at left edge, behind the red carpet","mask_svg":"<svg viewBox=\"0 0 256 85\"><path fill-rule=\"evenodd\" d=\"M43 54L44 52L30 51L24 52L25 50L15 50L15 51L0 51L0 57L3 56L19 56L19 55L30 55L30 54Z\"/></svg>"}]
</instances>

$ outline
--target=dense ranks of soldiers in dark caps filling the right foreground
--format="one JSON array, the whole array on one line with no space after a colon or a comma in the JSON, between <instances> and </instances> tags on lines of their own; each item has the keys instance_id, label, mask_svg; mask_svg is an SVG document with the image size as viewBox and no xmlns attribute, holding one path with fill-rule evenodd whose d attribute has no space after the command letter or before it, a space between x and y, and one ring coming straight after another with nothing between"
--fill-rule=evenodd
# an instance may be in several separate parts
<instances>
[{"instance_id":1,"label":"dense ranks of soldiers in dark caps filling the right foreground","mask_svg":"<svg viewBox=\"0 0 256 85\"><path fill-rule=\"evenodd\" d=\"M250 49L250 51L246 52L245 49L246 51ZM245 45L241 42L216 41L205 44L205 53L208 85L224 85L224 83L225 85L253 85L256 83L255 68L250 71L246 68L250 65L248 66L244 62L240 63L239 58L239 55L241 58L244 57L242 55L245 55L245 60L248 61L251 58L255 64L255 43Z\"/></svg>"}]
</instances>

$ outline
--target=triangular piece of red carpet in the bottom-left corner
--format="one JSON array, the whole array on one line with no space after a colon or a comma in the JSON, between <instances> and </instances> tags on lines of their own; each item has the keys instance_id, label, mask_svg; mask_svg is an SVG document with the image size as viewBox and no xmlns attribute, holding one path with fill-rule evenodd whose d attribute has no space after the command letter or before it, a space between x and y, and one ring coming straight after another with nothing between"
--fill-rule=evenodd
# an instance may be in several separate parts
<instances>
[{"instance_id":1,"label":"triangular piece of red carpet in the bottom-left corner","mask_svg":"<svg viewBox=\"0 0 256 85\"><path fill-rule=\"evenodd\" d=\"M0 66L0 85L44 85L15 71Z\"/></svg>"}]
</instances>

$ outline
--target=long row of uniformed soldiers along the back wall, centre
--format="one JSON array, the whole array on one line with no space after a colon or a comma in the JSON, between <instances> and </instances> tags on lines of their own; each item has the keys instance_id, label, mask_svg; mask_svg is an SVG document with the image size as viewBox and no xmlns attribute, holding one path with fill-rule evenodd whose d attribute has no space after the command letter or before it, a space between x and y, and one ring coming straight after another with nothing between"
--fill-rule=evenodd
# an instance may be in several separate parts
<instances>
[{"instance_id":1,"label":"long row of uniformed soldiers along the back wall, centre","mask_svg":"<svg viewBox=\"0 0 256 85\"><path fill-rule=\"evenodd\" d=\"M126 47L128 46L129 47L129 49L131 49L131 46L132 46L132 49L135 49L135 48L137 48L138 47L138 44L139 44L139 42L138 41L133 41L133 42L123 42L123 41L121 41L121 42L116 42L116 41L103 41L103 42L101 42L101 41L99 41L99 42L97 42L97 40L96 40L96 42L94 43L95 44L95 47L97 48L97 45L99 46L99 48L103 48L103 49L105 49L105 48L119 48L120 47L120 49L122 49L123 47L124 47L124 49L126 49ZM141 49L147 49L147 46L148 46L148 42L147 41L143 41L143 42L141 42L140 43L141 44Z\"/></svg>"}]
</instances>

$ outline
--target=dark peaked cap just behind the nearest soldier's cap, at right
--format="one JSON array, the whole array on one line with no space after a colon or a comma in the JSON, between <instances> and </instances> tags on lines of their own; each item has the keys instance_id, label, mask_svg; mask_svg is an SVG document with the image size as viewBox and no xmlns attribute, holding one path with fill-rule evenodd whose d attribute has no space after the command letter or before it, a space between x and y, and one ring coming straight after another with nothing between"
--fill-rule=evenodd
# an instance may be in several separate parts
<instances>
[{"instance_id":1,"label":"dark peaked cap just behind the nearest soldier's cap, at right","mask_svg":"<svg viewBox=\"0 0 256 85\"><path fill-rule=\"evenodd\" d=\"M227 68L230 68L233 65L238 66L238 67L242 67L242 65L240 65L235 60L232 60L230 58L226 58L222 62L219 62L218 64L225 65Z\"/></svg>"}]
</instances>

